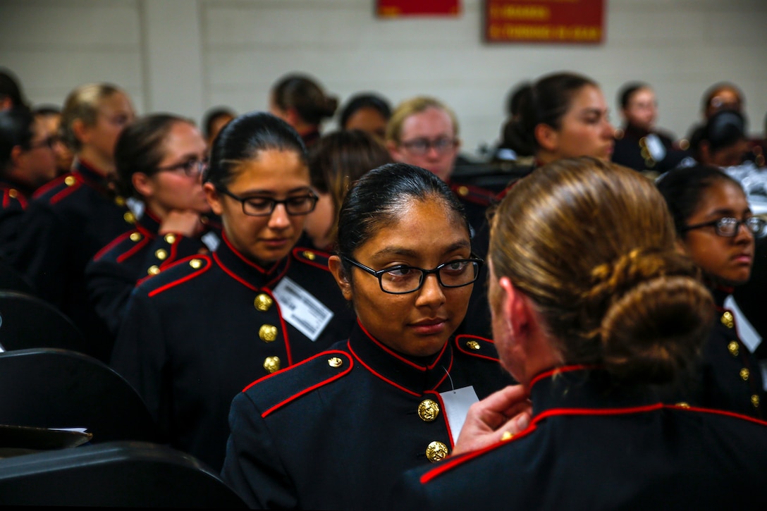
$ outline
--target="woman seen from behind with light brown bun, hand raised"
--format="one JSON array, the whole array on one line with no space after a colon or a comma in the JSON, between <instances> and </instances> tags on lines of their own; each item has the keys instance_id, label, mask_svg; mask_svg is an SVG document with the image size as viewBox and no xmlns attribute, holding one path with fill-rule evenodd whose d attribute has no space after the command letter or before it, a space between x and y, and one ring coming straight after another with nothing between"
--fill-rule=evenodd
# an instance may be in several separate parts
<instances>
[{"instance_id":1,"label":"woman seen from behind with light brown bun, hand raised","mask_svg":"<svg viewBox=\"0 0 767 511\"><path fill-rule=\"evenodd\" d=\"M482 417L491 441L413 470L384 509L754 503L733 489L767 475L767 424L663 405L654 391L693 364L713 312L675 243L663 197L633 170L579 158L519 180L492 220L489 300L532 420L506 430L515 410L496 398L513 393L493 394L464 427Z\"/></svg>"}]
</instances>

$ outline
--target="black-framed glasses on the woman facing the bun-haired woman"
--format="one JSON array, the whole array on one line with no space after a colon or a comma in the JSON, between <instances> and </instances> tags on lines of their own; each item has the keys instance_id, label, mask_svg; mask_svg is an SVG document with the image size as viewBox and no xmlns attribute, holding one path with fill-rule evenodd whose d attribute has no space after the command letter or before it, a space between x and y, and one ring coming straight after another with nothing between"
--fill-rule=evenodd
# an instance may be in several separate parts
<instances>
[{"instance_id":1,"label":"black-framed glasses on the woman facing the bun-haired woman","mask_svg":"<svg viewBox=\"0 0 767 511\"><path fill-rule=\"evenodd\" d=\"M426 281L426 275L434 274L443 288L460 288L475 282L479 276L479 268L484 261L482 259L456 259L454 261L443 262L435 269L423 269L416 266L396 265L374 270L368 268L359 261L355 261L346 256L342 256L347 262L357 266L370 275L378 279L381 291L391 293L392 295L404 295L418 291L423 282Z\"/></svg>"}]
</instances>

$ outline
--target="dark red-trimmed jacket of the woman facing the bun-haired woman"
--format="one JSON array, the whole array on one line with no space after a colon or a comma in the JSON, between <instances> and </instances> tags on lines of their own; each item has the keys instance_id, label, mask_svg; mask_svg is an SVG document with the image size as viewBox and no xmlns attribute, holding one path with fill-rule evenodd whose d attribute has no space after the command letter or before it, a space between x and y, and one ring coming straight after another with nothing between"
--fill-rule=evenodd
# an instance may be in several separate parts
<instances>
[{"instance_id":1,"label":"dark red-trimmed jacket of the woman facing the bun-haired woman","mask_svg":"<svg viewBox=\"0 0 767 511\"><path fill-rule=\"evenodd\" d=\"M425 366L357 325L235 397L222 476L257 508L367 509L403 470L449 453L452 414L464 416L453 389L482 398L511 382L491 341L451 340Z\"/></svg>"}]
</instances>

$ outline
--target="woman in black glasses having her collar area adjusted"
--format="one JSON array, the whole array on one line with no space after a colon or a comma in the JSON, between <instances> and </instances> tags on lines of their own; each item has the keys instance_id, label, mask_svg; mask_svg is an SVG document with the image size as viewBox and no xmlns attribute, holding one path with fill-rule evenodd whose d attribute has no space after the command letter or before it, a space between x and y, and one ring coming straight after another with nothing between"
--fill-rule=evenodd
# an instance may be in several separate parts
<instances>
[{"instance_id":1,"label":"woman in black glasses having her collar area adjusted","mask_svg":"<svg viewBox=\"0 0 767 511\"><path fill-rule=\"evenodd\" d=\"M232 403L222 476L252 507L368 509L402 470L446 457L467 407L510 382L491 341L453 337L482 261L439 177L404 163L362 176L337 246L351 337Z\"/></svg>"}]
</instances>

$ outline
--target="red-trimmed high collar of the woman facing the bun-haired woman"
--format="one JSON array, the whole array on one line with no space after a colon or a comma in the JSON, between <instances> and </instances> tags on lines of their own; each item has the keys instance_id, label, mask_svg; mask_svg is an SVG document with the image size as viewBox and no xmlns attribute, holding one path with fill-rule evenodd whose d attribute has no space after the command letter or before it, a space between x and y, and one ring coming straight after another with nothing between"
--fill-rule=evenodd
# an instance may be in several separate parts
<instances>
[{"instance_id":1,"label":"red-trimmed high collar of the woman facing the bun-haired woman","mask_svg":"<svg viewBox=\"0 0 767 511\"><path fill-rule=\"evenodd\" d=\"M380 379L400 390L420 395L423 391L436 389L449 378L453 367L451 342L446 342L442 351L433 357L416 359L393 351L357 321L349 337L349 348L357 361Z\"/></svg>"}]
</instances>

